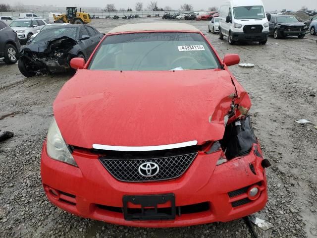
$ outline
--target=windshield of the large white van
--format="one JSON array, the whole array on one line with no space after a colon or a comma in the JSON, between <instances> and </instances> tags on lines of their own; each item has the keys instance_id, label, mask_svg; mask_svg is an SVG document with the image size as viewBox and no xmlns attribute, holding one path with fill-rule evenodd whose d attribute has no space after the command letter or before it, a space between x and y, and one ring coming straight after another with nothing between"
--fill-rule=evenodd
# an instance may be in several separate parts
<instances>
[{"instance_id":1,"label":"windshield of the large white van","mask_svg":"<svg viewBox=\"0 0 317 238\"><path fill-rule=\"evenodd\" d=\"M233 14L235 19L259 19L266 17L263 6L233 7Z\"/></svg>"}]
</instances>

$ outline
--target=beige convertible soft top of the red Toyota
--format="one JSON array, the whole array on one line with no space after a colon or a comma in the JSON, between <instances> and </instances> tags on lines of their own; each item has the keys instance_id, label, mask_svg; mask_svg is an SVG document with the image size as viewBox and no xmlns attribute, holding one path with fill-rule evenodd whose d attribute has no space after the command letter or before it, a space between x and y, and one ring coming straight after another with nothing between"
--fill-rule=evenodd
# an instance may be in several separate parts
<instances>
[{"instance_id":1,"label":"beige convertible soft top of the red Toyota","mask_svg":"<svg viewBox=\"0 0 317 238\"><path fill-rule=\"evenodd\" d=\"M131 32L131 31L200 31L196 27L186 23L138 23L127 24L113 28L108 33Z\"/></svg>"}]
</instances>

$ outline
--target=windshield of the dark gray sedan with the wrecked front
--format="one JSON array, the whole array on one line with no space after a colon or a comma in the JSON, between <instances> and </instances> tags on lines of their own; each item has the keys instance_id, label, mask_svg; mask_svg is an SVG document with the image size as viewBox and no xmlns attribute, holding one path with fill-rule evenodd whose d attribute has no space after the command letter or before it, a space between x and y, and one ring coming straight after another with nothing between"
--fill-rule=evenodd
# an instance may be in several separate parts
<instances>
[{"instance_id":1,"label":"windshield of the dark gray sedan with the wrecked front","mask_svg":"<svg viewBox=\"0 0 317 238\"><path fill-rule=\"evenodd\" d=\"M52 41L64 36L76 40L76 35L77 27L49 27L48 29L40 31L32 43Z\"/></svg>"}]
</instances>

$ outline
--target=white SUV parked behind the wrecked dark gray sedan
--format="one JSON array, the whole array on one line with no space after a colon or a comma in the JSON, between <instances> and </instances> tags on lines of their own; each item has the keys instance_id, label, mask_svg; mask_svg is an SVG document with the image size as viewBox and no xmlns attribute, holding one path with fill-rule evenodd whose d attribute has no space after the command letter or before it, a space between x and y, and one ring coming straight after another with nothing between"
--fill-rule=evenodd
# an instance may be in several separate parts
<instances>
[{"instance_id":1,"label":"white SUV parked behind the wrecked dark gray sedan","mask_svg":"<svg viewBox=\"0 0 317 238\"><path fill-rule=\"evenodd\" d=\"M18 35L19 41L25 43L31 39L31 36L41 30L48 22L39 18L23 18L12 21L10 27Z\"/></svg>"}]
</instances>

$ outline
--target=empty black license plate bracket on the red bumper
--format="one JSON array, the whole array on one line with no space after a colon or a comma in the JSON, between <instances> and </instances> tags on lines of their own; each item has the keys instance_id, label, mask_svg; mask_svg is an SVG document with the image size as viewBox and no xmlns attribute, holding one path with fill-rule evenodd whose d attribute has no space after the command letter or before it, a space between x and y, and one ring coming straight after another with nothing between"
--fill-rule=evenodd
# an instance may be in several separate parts
<instances>
[{"instance_id":1,"label":"empty black license plate bracket on the red bumper","mask_svg":"<svg viewBox=\"0 0 317 238\"><path fill-rule=\"evenodd\" d=\"M156 195L125 195L123 201L124 219L131 220L174 220L176 207L175 195L156 194ZM170 202L170 207L158 209L159 204ZM140 209L128 208L128 203L141 205Z\"/></svg>"}]
</instances>

